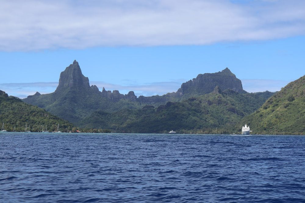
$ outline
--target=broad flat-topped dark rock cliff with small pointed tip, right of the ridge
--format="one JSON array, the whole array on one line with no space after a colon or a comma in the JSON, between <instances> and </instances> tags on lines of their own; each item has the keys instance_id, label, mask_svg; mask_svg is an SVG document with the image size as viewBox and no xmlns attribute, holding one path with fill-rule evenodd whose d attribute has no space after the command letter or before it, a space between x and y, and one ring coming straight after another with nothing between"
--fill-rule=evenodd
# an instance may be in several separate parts
<instances>
[{"instance_id":1,"label":"broad flat-topped dark rock cliff with small pointed tip, right of the ridge","mask_svg":"<svg viewBox=\"0 0 305 203\"><path fill-rule=\"evenodd\" d=\"M207 94L213 92L214 88L219 86L220 89L232 89L238 93L244 93L242 82L226 68L217 73L199 74L196 78L185 82L176 92L178 95L184 94Z\"/></svg>"}]
</instances>

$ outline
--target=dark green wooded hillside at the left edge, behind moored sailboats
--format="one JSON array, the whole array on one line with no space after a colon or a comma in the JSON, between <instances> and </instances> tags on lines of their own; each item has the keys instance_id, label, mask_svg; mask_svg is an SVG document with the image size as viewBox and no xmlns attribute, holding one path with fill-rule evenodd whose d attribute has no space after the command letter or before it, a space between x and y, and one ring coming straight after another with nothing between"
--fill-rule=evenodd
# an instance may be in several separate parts
<instances>
[{"instance_id":1,"label":"dark green wooded hillside at the left edge, behind moored sailboats","mask_svg":"<svg viewBox=\"0 0 305 203\"><path fill-rule=\"evenodd\" d=\"M41 131L42 125L49 131L55 131L59 124L61 131L72 130L73 124L48 113L46 110L27 104L17 97L8 96L0 90L0 121L4 122L5 130L24 131L25 125L31 131Z\"/></svg>"}]
</instances>

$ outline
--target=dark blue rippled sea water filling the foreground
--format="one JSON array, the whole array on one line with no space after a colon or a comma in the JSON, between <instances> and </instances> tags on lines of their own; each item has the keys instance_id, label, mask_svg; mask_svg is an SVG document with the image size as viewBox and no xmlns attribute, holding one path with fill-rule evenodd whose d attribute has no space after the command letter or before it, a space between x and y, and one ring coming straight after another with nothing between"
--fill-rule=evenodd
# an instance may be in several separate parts
<instances>
[{"instance_id":1,"label":"dark blue rippled sea water filling the foreground","mask_svg":"<svg viewBox=\"0 0 305 203\"><path fill-rule=\"evenodd\" d=\"M305 202L305 136L0 134L0 202Z\"/></svg>"}]
</instances>

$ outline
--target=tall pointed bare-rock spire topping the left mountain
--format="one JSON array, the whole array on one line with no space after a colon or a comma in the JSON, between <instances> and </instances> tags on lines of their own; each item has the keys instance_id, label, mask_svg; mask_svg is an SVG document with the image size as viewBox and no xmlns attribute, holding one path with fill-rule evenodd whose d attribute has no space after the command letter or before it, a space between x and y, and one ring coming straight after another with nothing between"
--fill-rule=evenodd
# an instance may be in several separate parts
<instances>
[{"instance_id":1,"label":"tall pointed bare-rock spire topping the left mountain","mask_svg":"<svg viewBox=\"0 0 305 203\"><path fill-rule=\"evenodd\" d=\"M90 88L89 79L82 74L81 68L76 60L60 73L59 84L56 91L69 87L77 89Z\"/></svg>"}]
</instances>

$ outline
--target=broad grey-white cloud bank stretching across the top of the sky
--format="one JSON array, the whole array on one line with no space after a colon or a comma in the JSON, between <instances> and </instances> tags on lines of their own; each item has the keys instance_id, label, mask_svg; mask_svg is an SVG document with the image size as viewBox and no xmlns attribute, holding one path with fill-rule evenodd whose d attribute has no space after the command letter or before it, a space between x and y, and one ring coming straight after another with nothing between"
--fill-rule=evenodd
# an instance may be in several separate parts
<instances>
[{"instance_id":1,"label":"broad grey-white cloud bank stretching across the top of the sky","mask_svg":"<svg viewBox=\"0 0 305 203\"><path fill-rule=\"evenodd\" d=\"M305 1L16 0L0 7L0 51L211 44L305 34Z\"/></svg>"}]
</instances>

